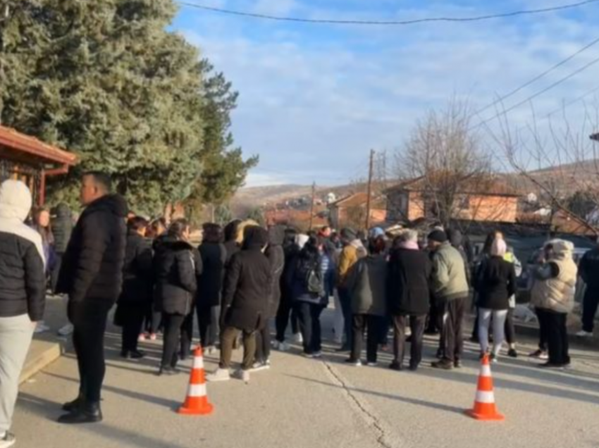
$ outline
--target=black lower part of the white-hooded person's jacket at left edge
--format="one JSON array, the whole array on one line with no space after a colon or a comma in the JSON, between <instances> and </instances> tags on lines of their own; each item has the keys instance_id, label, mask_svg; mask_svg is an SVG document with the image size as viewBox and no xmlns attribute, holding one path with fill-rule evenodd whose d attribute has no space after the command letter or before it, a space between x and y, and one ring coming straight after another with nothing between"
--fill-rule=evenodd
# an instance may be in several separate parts
<instances>
[{"instance_id":1,"label":"black lower part of the white-hooded person's jacket at left edge","mask_svg":"<svg viewBox=\"0 0 599 448\"><path fill-rule=\"evenodd\" d=\"M25 228L22 223L18 225ZM39 239L39 235L35 237ZM40 321L45 304L44 261L35 242L16 233L0 232L0 317L28 314L31 321Z\"/></svg>"}]
</instances>

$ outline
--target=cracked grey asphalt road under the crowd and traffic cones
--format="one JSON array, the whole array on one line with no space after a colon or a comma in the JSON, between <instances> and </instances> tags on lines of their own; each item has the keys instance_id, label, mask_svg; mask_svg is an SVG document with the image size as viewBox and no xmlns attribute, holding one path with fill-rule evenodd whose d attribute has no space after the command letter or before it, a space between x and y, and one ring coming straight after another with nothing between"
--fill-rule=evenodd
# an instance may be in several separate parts
<instances>
[{"instance_id":1,"label":"cracked grey asphalt road under the crowd and traffic cones","mask_svg":"<svg viewBox=\"0 0 599 448\"><path fill-rule=\"evenodd\" d=\"M440 372L426 367L436 343L427 341L418 373L388 370L388 354L376 368L347 366L332 345L322 361L298 356L297 347L273 352L273 368L254 373L249 385L209 384L211 416L187 417L174 412L187 375L154 375L159 342L144 344L147 359L122 361L111 333L103 423L55 423L60 404L77 394L68 354L23 385L13 430L25 448L599 447L597 351L574 350L567 371L543 371L524 357L502 359L493 375L507 420L481 423L463 413L474 401L477 347L468 345L464 368ZM213 357L206 361L214 368Z\"/></svg>"}]
</instances>

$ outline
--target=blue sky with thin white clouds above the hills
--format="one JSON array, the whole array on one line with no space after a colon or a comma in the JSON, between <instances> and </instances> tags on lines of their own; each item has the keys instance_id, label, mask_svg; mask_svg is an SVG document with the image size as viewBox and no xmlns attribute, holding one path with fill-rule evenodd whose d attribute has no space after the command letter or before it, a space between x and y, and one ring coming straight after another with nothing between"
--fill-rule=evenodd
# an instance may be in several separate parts
<instances>
[{"instance_id":1,"label":"blue sky with thin white clouds above the hills","mask_svg":"<svg viewBox=\"0 0 599 448\"><path fill-rule=\"evenodd\" d=\"M572 0L188 1L304 18L403 20L502 13ZM599 4L591 4L479 23L361 27L275 23L182 7L174 28L240 92L235 139L245 154L261 157L249 186L313 180L338 185L366 175L369 149L386 150L390 158L401 151L416 120L431 108L443 108L455 96L477 110L598 38L598 18ZM507 100L505 107L598 57L599 44ZM595 87L599 64L517 108L509 123L524 126ZM592 94L569 106L569 119L581 122L598 98ZM481 119L495 113L491 108ZM545 121L546 130L550 120ZM499 129L499 123L493 126Z\"/></svg>"}]
</instances>

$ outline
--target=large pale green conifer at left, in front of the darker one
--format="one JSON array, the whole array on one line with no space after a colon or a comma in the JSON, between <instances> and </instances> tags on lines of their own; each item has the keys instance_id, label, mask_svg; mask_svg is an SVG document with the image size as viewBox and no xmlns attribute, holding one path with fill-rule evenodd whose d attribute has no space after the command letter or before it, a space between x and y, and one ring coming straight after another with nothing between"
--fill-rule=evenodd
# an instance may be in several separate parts
<instances>
[{"instance_id":1,"label":"large pale green conifer at left, in front of the darker one","mask_svg":"<svg viewBox=\"0 0 599 448\"><path fill-rule=\"evenodd\" d=\"M188 197L202 165L202 64L166 31L173 1L9 3L1 118L80 156L52 185L58 197L86 170L113 174L136 211Z\"/></svg>"}]
</instances>

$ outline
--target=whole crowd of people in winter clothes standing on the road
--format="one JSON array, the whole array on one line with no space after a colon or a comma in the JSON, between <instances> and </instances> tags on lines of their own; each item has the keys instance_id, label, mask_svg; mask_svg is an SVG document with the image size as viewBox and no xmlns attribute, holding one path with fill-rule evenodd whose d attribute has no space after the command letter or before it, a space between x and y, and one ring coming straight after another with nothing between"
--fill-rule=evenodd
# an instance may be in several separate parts
<instances>
[{"instance_id":1,"label":"whole crowd of people in winter clothes standing on the road","mask_svg":"<svg viewBox=\"0 0 599 448\"><path fill-rule=\"evenodd\" d=\"M138 342L162 332L158 375L178 373L179 361L190 356L194 321L204 350L220 351L210 381L231 378L233 350L240 345L243 359L233 376L248 382L251 372L270 368L271 347L290 348L290 324L303 356L319 359L321 316L332 299L338 351L347 352L354 366L362 365L364 338L366 364L376 366L393 330L390 368L418 370L425 332L440 332L433 368L460 368L471 303L481 357L497 362L506 339L507 354L518 355L513 310L521 266L501 232L488 235L476 261L459 232L443 228L405 230L394 238L381 229L359 235L328 227L304 235L234 220L225 228L204 224L196 247L185 219L136 216L123 197L111 193L107 175L84 175L80 199L84 209L74 223L63 204L30 215L32 197L22 182L0 186L0 447L14 442L8 430L18 376L35 323L42 321L48 287L68 296L80 376L78 397L63 405L60 423L102 419L104 334L114 304L123 358L142 358ZM548 242L533 273L532 304L541 328L533 356L549 368L570 362L566 319L576 287L573 249L561 239ZM588 282L594 285L592 278Z\"/></svg>"}]
</instances>

